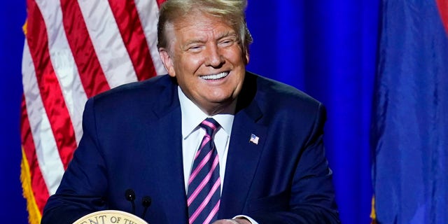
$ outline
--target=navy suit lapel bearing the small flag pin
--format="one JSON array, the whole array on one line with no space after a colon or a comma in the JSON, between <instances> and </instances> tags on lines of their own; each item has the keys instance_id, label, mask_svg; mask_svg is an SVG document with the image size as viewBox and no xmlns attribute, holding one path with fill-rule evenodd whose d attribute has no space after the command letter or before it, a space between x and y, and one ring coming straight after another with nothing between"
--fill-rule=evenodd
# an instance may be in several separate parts
<instances>
[{"instance_id":1,"label":"navy suit lapel bearing the small flag pin","mask_svg":"<svg viewBox=\"0 0 448 224\"><path fill-rule=\"evenodd\" d=\"M262 113L255 101L255 76L246 75L243 90L230 137L218 218L232 218L244 213L244 204L267 139L267 127L258 122ZM252 134L254 141L251 141Z\"/></svg>"}]
</instances>

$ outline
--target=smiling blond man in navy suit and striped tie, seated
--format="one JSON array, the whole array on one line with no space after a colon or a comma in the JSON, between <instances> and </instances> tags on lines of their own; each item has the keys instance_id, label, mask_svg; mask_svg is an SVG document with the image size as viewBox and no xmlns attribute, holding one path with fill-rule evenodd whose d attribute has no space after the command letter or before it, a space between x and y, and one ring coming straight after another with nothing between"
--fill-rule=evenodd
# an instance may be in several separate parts
<instances>
[{"instance_id":1,"label":"smiling blond man in navy suit and striped tie, seated","mask_svg":"<svg viewBox=\"0 0 448 224\"><path fill-rule=\"evenodd\" d=\"M83 139L42 223L105 209L146 214L148 223L339 223L325 110L246 71L245 7L161 6L158 47L169 76L87 102ZM134 205L146 195L147 212Z\"/></svg>"}]
</instances>

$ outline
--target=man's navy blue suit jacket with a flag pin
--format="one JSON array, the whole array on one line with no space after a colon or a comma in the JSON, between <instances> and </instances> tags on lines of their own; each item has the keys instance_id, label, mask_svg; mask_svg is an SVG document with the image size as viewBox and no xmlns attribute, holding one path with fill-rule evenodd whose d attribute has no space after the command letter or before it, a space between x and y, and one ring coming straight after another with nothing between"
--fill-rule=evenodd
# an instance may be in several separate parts
<instances>
[{"instance_id":1,"label":"man's navy blue suit jacket with a flag pin","mask_svg":"<svg viewBox=\"0 0 448 224\"><path fill-rule=\"evenodd\" d=\"M322 104L293 87L246 73L230 137L218 218L259 223L339 223L325 159ZM131 212L125 190L152 198L151 224L188 223L181 107L176 81L158 76L89 99L83 137L42 223L93 211ZM251 134L258 144L249 141Z\"/></svg>"}]
</instances>

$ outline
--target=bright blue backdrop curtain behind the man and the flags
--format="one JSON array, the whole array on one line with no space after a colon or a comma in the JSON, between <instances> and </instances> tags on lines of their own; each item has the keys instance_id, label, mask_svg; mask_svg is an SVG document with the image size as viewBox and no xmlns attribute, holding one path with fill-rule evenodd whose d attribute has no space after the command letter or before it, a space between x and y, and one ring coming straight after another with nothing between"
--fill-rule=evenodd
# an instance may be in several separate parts
<instances>
[{"instance_id":1,"label":"bright blue backdrop curtain behind the man and the flags","mask_svg":"<svg viewBox=\"0 0 448 224\"><path fill-rule=\"evenodd\" d=\"M25 1L0 7L0 220L27 223L20 186L20 63ZM370 223L372 82L378 0L249 0L248 70L293 85L325 104L326 153L343 223ZM6 198L5 198L6 197Z\"/></svg>"}]
</instances>

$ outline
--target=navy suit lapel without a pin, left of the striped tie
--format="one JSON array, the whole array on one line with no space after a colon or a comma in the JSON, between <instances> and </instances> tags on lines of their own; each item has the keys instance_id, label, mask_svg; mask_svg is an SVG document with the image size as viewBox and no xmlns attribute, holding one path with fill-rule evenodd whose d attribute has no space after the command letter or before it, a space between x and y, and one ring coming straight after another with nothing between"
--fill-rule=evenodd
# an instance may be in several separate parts
<instances>
[{"instance_id":1,"label":"navy suit lapel without a pin, left of the striped tie","mask_svg":"<svg viewBox=\"0 0 448 224\"><path fill-rule=\"evenodd\" d=\"M160 91L160 100L153 106L156 119L147 125L151 169L155 170L160 210L164 223L187 223L186 191L183 181L181 107L176 85ZM153 205L155 206L155 204Z\"/></svg>"}]
</instances>

